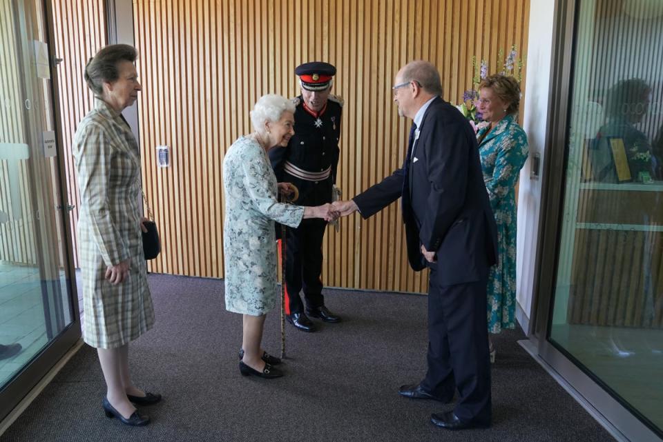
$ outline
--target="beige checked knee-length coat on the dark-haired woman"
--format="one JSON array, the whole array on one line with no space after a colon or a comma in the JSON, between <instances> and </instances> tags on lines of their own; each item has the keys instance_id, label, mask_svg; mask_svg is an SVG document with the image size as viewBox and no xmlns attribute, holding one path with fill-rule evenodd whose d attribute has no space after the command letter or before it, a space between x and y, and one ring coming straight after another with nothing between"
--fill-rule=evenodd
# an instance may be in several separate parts
<instances>
[{"instance_id":1,"label":"beige checked knee-length coat on the dark-haired woman","mask_svg":"<svg viewBox=\"0 0 663 442\"><path fill-rule=\"evenodd\" d=\"M140 230L140 151L121 114L95 99L76 130L73 154L81 194L83 339L117 348L154 324ZM112 285L106 269L127 259L127 279Z\"/></svg>"}]
</instances>

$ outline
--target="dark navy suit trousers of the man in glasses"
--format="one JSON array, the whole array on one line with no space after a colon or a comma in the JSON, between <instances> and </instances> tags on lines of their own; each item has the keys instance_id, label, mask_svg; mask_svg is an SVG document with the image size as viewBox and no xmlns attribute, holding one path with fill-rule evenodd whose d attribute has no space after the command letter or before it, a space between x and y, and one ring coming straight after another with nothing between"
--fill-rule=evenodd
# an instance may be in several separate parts
<instances>
[{"instance_id":1,"label":"dark navy suit trousers of the man in glasses","mask_svg":"<svg viewBox=\"0 0 663 442\"><path fill-rule=\"evenodd\" d=\"M490 424L490 354L486 319L487 279L441 285L430 271L428 291L428 371L425 390L459 401L454 413L461 421Z\"/></svg>"}]
</instances>

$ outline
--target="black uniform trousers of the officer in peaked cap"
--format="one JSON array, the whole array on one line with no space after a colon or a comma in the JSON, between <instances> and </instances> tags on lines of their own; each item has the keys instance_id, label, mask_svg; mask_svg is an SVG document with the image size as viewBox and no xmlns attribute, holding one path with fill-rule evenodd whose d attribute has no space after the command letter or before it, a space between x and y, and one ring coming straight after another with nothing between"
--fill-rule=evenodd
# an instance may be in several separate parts
<instances>
[{"instance_id":1,"label":"black uniform trousers of the officer in peaked cap","mask_svg":"<svg viewBox=\"0 0 663 442\"><path fill-rule=\"evenodd\" d=\"M323 270L323 237L327 221L304 219L296 229L286 229L285 290L288 296L289 314L302 313L304 305L299 292L309 308L325 305L320 274Z\"/></svg>"}]
</instances>

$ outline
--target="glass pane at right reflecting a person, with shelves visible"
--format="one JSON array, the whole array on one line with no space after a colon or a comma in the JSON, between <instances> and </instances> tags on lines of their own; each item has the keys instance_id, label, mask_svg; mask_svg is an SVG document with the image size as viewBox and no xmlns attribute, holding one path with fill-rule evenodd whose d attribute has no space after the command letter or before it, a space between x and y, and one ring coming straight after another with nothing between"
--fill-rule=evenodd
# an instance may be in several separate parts
<instances>
[{"instance_id":1,"label":"glass pane at right reflecting a person, with shelves visible","mask_svg":"<svg viewBox=\"0 0 663 442\"><path fill-rule=\"evenodd\" d=\"M663 429L663 2L579 2L550 341Z\"/></svg>"}]
</instances>

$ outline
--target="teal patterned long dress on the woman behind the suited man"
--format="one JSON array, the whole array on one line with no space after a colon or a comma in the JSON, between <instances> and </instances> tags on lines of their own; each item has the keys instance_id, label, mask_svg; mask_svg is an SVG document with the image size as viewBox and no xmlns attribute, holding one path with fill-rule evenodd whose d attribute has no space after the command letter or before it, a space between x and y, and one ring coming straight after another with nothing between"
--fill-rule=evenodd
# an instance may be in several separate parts
<instances>
[{"instance_id":1,"label":"teal patterned long dress on the woman behind the suited man","mask_svg":"<svg viewBox=\"0 0 663 442\"><path fill-rule=\"evenodd\" d=\"M488 277L488 332L516 327L516 195L515 186L529 148L525 131L508 115L493 130L477 133L483 181L497 221L497 265ZM488 132L488 133L486 133Z\"/></svg>"}]
</instances>

